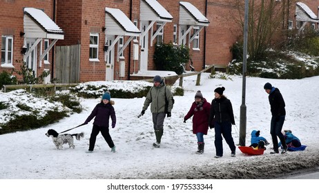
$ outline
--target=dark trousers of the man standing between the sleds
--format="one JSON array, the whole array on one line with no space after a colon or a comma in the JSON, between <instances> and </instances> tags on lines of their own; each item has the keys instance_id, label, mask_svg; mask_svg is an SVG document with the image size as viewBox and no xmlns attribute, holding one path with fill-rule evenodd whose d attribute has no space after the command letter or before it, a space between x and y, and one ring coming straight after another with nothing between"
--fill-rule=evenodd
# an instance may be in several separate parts
<instances>
[{"instance_id":1,"label":"dark trousers of the man standing between the sleds","mask_svg":"<svg viewBox=\"0 0 319 193\"><path fill-rule=\"evenodd\" d=\"M284 139L284 135L282 134L282 125L284 125L284 117L285 116L279 116L279 119L276 120L277 116L271 117L271 124L270 124L270 134L271 139L273 139L273 150L275 152L278 152L278 138L280 139L280 142L282 144L282 147L284 149L287 148L286 140Z\"/></svg>"}]
</instances>

